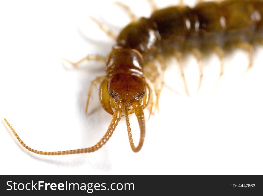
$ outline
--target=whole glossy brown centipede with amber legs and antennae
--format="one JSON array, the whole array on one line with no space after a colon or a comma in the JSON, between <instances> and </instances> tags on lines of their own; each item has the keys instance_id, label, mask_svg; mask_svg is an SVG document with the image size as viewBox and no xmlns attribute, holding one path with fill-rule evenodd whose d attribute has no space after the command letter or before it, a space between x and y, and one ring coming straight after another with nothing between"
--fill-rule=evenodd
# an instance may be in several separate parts
<instances>
[{"instance_id":1,"label":"whole glossy brown centipede with amber legs and antennae","mask_svg":"<svg viewBox=\"0 0 263 196\"><path fill-rule=\"evenodd\" d=\"M146 137L146 120L159 111L159 101L164 86L166 59L174 57L178 62L181 80L186 95L190 96L183 69L183 56L192 54L198 62L199 81L197 93L203 84L203 58L209 53L218 55L220 72L215 87L224 75L226 51L240 48L247 52L247 70L253 66L253 51L256 44L263 44L263 1L224 0L198 1L189 7L183 1L179 5L158 9L153 0L148 0L152 9L149 17L138 18L124 3L117 4L131 18L118 35L101 24L96 18L90 19L109 37L115 40L108 55L89 54L77 62L64 61L78 68L84 61L105 63L105 75L94 78L88 91L86 108L96 85L99 85L101 106L112 115L108 129L95 145L65 151L41 151L27 146L10 123L4 119L19 143L28 151L39 155L69 155L99 150L111 138L121 118L126 121L128 139L133 152L139 152ZM154 63L158 61L158 65ZM144 109L149 109L149 117ZM129 115L135 113L140 129L140 140L133 142Z\"/></svg>"}]
</instances>

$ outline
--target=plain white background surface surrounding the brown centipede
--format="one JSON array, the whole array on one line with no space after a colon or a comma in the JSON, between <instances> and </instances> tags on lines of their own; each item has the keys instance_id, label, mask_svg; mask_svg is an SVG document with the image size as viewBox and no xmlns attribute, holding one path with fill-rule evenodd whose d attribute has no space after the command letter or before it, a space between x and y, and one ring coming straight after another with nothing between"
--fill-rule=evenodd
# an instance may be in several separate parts
<instances>
[{"instance_id":1,"label":"plain white background surface surrounding the brown centipede","mask_svg":"<svg viewBox=\"0 0 263 196\"><path fill-rule=\"evenodd\" d=\"M91 80L105 73L101 62L78 69L62 66L87 54L106 55L114 41L87 17L94 16L115 33L129 22L113 1L1 1L0 3L0 174L263 174L263 47L256 47L254 67L247 54L235 50L219 75L214 54L204 60L198 86L198 64L184 61L191 97L187 97L178 64L169 61L157 112L146 122L142 150L132 152L124 118L97 152L79 155L31 154L4 124L7 118L30 147L57 151L90 147L111 121L94 89L88 115L85 101ZM176 1L156 0L159 7ZM194 1L185 1L194 5ZM138 16L149 16L146 1L125 1ZM145 110L146 116L149 111ZM135 142L136 118L131 118Z\"/></svg>"}]
</instances>

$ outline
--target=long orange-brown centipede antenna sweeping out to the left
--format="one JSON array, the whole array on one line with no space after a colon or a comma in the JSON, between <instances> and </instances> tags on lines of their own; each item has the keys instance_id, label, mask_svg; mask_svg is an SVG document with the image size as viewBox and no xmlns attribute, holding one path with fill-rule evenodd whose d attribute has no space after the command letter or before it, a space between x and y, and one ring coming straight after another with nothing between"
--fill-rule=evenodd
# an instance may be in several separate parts
<instances>
[{"instance_id":1,"label":"long orange-brown centipede antenna sweeping out to the left","mask_svg":"<svg viewBox=\"0 0 263 196\"><path fill-rule=\"evenodd\" d=\"M111 124L108 127L107 132L103 136L103 138L94 146L89 147L89 148L82 148L82 149L76 149L76 150L65 150L65 151L55 151L55 152L43 152L40 150L34 150L27 146L17 135L16 131L13 129L13 127L9 124L9 122L4 118L5 123L7 126L11 129L13 134L15 135L16 139L19 141L19 143L28 151L33 152L35 154L39 155L70 155L70 154L79 154L79 153L88 153L88 152L94 152L98 149L100 149L111 137L113 134L116 126L118 125L120 118L121 118L121 113L123 111L123 103L117 102L116 107L115 107L115 112L113 114Z\"/></svg>"}]
</instances>

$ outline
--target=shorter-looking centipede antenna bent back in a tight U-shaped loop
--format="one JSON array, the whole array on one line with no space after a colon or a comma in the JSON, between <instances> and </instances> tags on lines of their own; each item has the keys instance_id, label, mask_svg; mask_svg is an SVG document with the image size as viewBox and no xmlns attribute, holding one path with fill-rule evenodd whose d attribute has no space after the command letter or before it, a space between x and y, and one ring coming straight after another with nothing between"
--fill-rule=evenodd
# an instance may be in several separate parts
<instances>
[{"instance_id":1,"label":"shorter-looking centipede antenna bent back in a tight U-shaped loop","mask_svg":"<svg viewBox=\"0 0 263 196\"><path fill-rule=\"evenodd\" d=\"M139 152L140 149L143 146L144 138L145 138L145 120L144 120L144 113L143 113L143 108L140 104L139 101L135 101L134 104L132 105L135 115L137 116L138 123L140 126L140 141L137 147L134 146L133 139L132 139L132 130L131 130L131 125L129 121L129 116L128 116L128 108L124 108L125 112L125 119L126 119L126 126L127 126L127 131L128 131L128 136L129 136L129 142L130 146L132 148L133 152Z\"/></svg>"}]
</instances>

